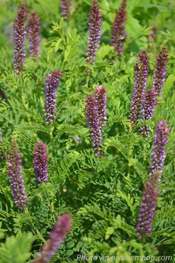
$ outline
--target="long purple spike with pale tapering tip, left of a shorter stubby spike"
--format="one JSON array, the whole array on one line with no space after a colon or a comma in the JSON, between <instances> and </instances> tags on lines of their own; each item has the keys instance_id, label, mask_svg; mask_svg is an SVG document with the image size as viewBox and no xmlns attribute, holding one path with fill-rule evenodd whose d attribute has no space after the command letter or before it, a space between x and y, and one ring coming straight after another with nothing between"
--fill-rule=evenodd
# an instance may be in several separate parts
<instances>
[{"instance_id":1,"label":"long purple spike with pale tapering tip, left of a shorter stubby spike","mask_svg":"<svg viewBox=\"0 0 175 263\"><path fill-rule=\"evenodd\" d=\"M27 195L22 176L22 160L19 154L16 139L12 139L11 150L7 161L7 172L9 173L9 181L15 206L20 209L24 209L27 206Z\"/></svg>"}]
</instances>

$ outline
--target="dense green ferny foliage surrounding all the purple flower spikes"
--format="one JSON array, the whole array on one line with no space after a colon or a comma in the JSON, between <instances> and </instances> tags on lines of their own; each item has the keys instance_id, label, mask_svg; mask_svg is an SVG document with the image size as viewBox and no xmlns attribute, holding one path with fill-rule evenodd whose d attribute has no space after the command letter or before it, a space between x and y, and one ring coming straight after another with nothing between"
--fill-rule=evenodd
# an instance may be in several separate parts
<instances>
[{"instance_id":1,"label":"dense green ferny foliage surrounding all the purple flower spikes","mask_svg":"<svg viewBox=\"0 0 175 263\"><path fill-rule=\"evenodd\" d=\"M41 19L41 59L34 62L29 57L26 41L24 75L19 79L13 70L13 20L21 1L0 1L0 88L8 98L8 104L0 102L1 148L8 153L11 138L17 138L29 199L27 210L15 208L3 160L0 164L0 262L32 262L43 239L48 240L56 217L65 211L72 215L73 227L52 263L77 262L77 254L165 255L172 256L175 262L175 1L128 0L128 37L124 56L117 58L110 47L110 37L120 1L99 0L102 38L96 63L91 66L88 87L84 69L90 0L72 1L74 10L69 23L61 20L58 0L26 2L28 10L37 11ZM149 123L151 135L143 139L137 129L130 131L128 116L134 64L137 53L144 48L150 56L148 88L152 85L155 54L151 52L147 35L155 24L158 27L154 42L156 53L166 45L169 61L161 104L157 105L153 121ZM54 69L61 70L64 76L57 91L56 120L51 127L43 118L44 93L45 76ZM108 96L104 159L94 156L84 109L86 96L97 84L106 86ZM141 191L148 179L156 123L162 119L168 120L171 135L153 232L139 241L135 224ZM39 140L49 148L49 182L36 188L32 162L35 143ZM94 262L108 263L110 259Z\"/></svg>"}]
</instances>

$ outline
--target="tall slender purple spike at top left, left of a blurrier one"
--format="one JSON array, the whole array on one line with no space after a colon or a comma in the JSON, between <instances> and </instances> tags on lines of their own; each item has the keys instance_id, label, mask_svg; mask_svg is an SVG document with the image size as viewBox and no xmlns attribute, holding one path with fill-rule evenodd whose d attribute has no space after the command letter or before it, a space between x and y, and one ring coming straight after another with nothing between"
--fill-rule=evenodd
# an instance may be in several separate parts
<instances>
[{"instance_id":1,"label":"tall slender purple spike at top left, left of a blurrier one","mask_svg":"<svg viewBox=\"0 0 175 263\"><path fill-rule=\"evenodd\" d=\"M14 21L14 69L20 75L24 66L25 58L25 35L27 19L26 3L21 3L17 18Z\"/></svg>"}]
</instances>

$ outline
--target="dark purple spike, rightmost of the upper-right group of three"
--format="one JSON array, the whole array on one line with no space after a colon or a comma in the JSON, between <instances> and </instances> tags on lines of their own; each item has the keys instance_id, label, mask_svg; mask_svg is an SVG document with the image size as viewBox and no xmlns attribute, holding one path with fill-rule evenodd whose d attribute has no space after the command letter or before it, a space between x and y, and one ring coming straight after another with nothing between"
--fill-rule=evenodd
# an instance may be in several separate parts
<instances>
[{"instance_id":1,"label":"dark purple spike, rightmost of the upper-right group of three","mask_svg":"<svg viewBox=\"0 0 175 263\"><path fill-rule=\"evenodd\" d=\"M166 77L166 65L168 61L168 50L162 47L156 58L156 67L153 75L153 88L156 90L156 96L161 97L162 87Z\"/></svg>"}]
</instances>

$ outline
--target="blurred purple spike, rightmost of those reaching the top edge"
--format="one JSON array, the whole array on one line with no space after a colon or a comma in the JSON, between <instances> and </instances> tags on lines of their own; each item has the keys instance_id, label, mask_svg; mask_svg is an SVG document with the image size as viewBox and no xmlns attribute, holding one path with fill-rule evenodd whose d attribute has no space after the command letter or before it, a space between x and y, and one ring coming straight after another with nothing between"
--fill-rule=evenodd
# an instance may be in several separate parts
<instances>
[{"instance_id":1,"label":"blurred purple spike, rightmost of those reaching the top edge","mask_svg":"<svg viewBox=\"0 0 175 263\"><path fill-rule=\"evenodd\" d=\"M123 56L123 41L126 38L126 33L124 32L126 23L126 3L127 0L123 0L119 10L116 10L116 17L112 26L111 45L119 56Z\"/></svg>"}]
</instances>

